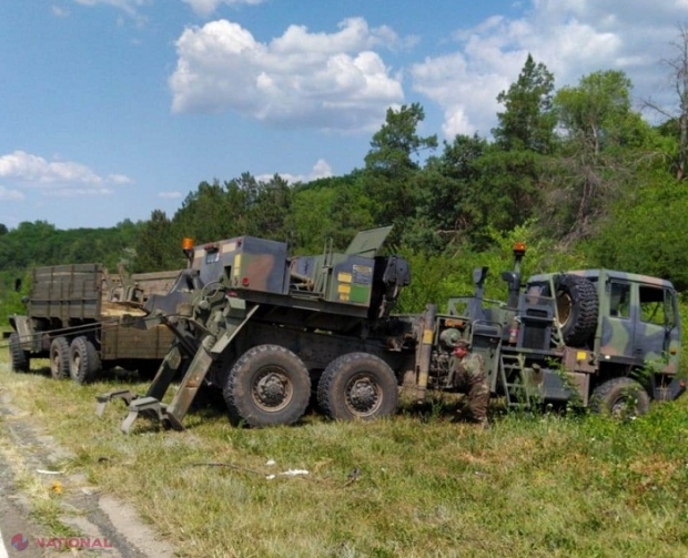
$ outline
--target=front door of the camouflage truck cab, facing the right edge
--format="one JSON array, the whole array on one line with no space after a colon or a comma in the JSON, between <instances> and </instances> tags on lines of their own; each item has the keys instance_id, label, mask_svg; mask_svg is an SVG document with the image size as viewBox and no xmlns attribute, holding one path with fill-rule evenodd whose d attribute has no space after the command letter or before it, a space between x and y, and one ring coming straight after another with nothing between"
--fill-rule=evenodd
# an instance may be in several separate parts
<instances>
[{"instance_id":1,"label":"front door of the camouflage truck cab, facing the right edge","mask_svg":"<svg viewBox=\"0 0 688 558\"><path fill-rule=\"evenodd\" d=\"M678 359L676 293L661 286L638 285L638 306L634 310L634 356L643 363L654 362L660 368Z\"/></svg>"}]
</instances>

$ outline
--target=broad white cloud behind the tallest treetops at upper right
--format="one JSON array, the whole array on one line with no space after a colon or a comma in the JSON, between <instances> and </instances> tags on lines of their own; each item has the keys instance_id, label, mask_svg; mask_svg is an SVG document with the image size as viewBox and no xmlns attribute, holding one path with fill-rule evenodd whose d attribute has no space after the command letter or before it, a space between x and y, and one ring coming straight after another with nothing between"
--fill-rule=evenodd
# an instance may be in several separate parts
<instances>
[{"instance_id":1,"label":"broad white cloud behind the tallest treetops at upper right","mask_svg":"<svg viewBox=\"0 0 688 558\"><path fill-rule=\"evenodd\" d=\"M494 17L459 29L454 52L409 69L413 89L444 112L444 133L487 136L504 110L500 91L516 81L528 53L554 73L556 88L598 70L621 70L639 98L662 87L657 65L688 18L688 1L532 0L519 19Z\"/></svg>"}]
</instances>

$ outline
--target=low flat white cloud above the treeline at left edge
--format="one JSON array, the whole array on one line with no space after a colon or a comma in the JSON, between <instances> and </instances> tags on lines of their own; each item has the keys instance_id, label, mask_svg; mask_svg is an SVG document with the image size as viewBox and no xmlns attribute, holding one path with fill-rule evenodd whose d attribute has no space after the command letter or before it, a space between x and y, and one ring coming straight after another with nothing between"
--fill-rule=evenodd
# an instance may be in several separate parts
<instances>
[{"instance_id":1,"label":"low flat white cloud above the treeline at left edge","mask_svg":"<svg viewBox=\"0 0 688 558\"><path fill-rule=\"evenodd\" d=\"M41 189L49 195L108 195L112 193L110 185L131 183L123 174L103 179L81 163L47 161L24 151L0 155L0 179L19 186Z\"/></svg>"}]
</instances>

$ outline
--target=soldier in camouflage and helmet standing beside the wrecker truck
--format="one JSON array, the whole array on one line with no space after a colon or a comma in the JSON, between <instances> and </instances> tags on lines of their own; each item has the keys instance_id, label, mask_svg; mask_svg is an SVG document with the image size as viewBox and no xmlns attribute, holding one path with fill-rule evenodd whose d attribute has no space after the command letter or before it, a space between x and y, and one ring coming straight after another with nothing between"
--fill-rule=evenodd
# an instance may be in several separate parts
<instances>
[{"instance_id":1,"label":"soldier in camouflage and helmet standing beside the wrecker truck","mask_svg":"<svg viewBox=\"0 0 688 558\"><path fill-rule=\"evenodd\" d=\"M487 426L487 404L489 402L489 386L485 362L477 353L471 352L471 345L459 339L454 347L452 368L457 384L466 390L468 409L473 420L483 427Z\"/></svg>"}]
</instances>

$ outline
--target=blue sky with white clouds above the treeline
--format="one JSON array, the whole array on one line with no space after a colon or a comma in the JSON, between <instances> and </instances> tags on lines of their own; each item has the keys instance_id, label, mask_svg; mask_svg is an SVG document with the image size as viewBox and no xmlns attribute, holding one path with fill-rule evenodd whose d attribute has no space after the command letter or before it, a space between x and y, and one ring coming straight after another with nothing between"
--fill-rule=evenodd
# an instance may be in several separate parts
<instances>
[{"instance_id":1,"label":"blue sky with white clouds above the treeline","mask_svg":"<svg viewBox=\"0 0 688 558\"><path fill-rule=\"evenodd\" d=\"M421 135L489 138L528 53L557 89L620 70L638 110L672 112L687 22L688 0L0 0L0 224L111 227L202 181L343 175L414 102Z\"/></svg>"}]
</instances>

